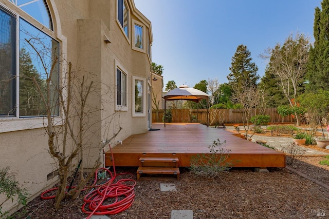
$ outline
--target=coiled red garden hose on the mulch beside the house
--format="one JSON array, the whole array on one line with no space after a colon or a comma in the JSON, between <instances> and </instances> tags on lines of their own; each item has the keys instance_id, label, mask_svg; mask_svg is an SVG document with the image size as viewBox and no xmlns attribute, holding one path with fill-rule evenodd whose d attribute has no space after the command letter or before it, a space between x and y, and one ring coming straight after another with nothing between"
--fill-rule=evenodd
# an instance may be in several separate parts
<instances>
[{"instance_id":1,"label":"coiled red garden hose on the mulch beside the house","mask_svg":"<svg viewBox=\"0 0 329 219\"><path fill-rule=\"evenodd\" d=\"M89 192L83 199L84 204L82 205L82 212L89 214L86 219L89 219L92 215L118 214L132 206L135 200L134 187L136 185L136 181L132 180L133 174L116 174L114 157L110 145L109 149L112 154L114 174L112 174L112 172L107 168L99 168L95 173L94 184L83 189L86 190L91 187L94 188L94 190ZM99 170L104 170L111 176L111 178L108 178L108 181L102 185L96 185ZM121 175L129 175L129 177L116 181L116 177ZM68 188L70 187L66 187L66 189ZM56 197L56 195L45 196L46 193L53 190L57 190L57 188L44 191L41 194L41 198L50 199Z\"/></svg>"}]
</instances>

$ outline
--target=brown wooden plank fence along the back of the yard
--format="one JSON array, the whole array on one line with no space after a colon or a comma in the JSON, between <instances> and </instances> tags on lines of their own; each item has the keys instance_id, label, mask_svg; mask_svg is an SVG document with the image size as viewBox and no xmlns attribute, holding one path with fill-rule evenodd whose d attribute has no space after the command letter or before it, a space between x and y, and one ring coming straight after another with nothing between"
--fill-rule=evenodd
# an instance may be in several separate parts
<instances>
[{"instance_id":1,"label":"brown wooden plank fence along the back of the yard","mask_svg":"<svg viewBox=\"0 0 329 219\"><path fill-rule=\"evenodd\" d=\"M152 122L163 122L163 112L159 110L158 116L155 110L152 111ZM171 109L172 123L190 123L198 122L207 124L207 109ZM251 116L259 115L260 110L255 109ZM269 108L265 110L265 115L270 116L270 123L294 123L291 116L281 116L276 108ZM251 117L250 116L250 117ZM196 119L197 118L197 119ZM168 122L168 121L167 121ZM226 124L239 124L243 123L242 114L239 109L209 109L209 125L222 125Z\"/></svg>"}]
</instances>

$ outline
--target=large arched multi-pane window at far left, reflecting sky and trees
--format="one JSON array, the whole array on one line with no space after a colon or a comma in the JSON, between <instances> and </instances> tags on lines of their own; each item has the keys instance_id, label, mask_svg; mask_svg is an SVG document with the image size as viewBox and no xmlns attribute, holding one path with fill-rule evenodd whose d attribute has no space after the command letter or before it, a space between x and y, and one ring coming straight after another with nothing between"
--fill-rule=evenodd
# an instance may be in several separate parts
<instances>
[{"instance_id":1,"label":"large arched multi-pane window at far left, reflecting sky and trees","mask_svg":"<svg viewBox=\"0 0 329 219\"><path fill-rule=\"evenodd\" d=\"M8 0L52 30L43 0ZM19 11L19 10L18 10ZM59 42L36 28L35 21L14 14L0 4L0 116L44 116L50 107L59 116ZM40 26L40 25L39 25ZM19 27L17 29L17 27ZM19 33L16 33L16 30ZM16 46L18 45L18 47ZM47 88L47 79L51 81ZM48 80L48 81L49 81ZM50 91L45 104L42 96Z\"/></svg>"}]
</instances>

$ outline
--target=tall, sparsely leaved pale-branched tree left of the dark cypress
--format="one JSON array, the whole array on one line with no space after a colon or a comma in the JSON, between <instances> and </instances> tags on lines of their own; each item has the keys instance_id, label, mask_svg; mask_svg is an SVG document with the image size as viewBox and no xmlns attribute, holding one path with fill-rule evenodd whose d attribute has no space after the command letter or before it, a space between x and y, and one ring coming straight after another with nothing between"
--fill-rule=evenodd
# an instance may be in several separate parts
<instances>
[{"instance_id":1,"label":"tall, sparsely leaved pale-branched tree left of the dark cypress","mask_svg":"<svg viewBox=\"0 0 329 219\"><path fill-rule=\"evenodd\" d=\"M297 33L290 34L283 45L268 48L261 56L269 59L268 71L278 77L278 85L291 107L296 107L296 98L303 93L303 83L308 61L309 39ZM295 114L297 125L300 115Z\"/></svg>"}]
</instances>

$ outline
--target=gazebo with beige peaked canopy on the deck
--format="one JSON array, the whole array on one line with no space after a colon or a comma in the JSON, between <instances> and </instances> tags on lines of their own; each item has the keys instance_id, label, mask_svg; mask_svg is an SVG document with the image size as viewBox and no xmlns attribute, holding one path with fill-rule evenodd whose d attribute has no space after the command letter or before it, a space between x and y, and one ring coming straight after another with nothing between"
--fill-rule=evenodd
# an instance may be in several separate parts
<instances>
[{"instance_id":1,"label":"gazebo with beige peaked canopy on the deck","mask_svg":"<svg viewBox=\"0 0 329 219\"><path fill-rule=\"evenodd\" d=\"M167 101L178 101L179 99L184 99L186 101L193 101L195 103L199 103L202 99L206 99L207 101L207 126L209 126L209 95L203 91L200 91L195 88L190 88L187 85L179 86L176 89L173 89L166 93L163 96L165 99L165 126L166 126L166 102Z\"/></svg>"}]
</instances>

